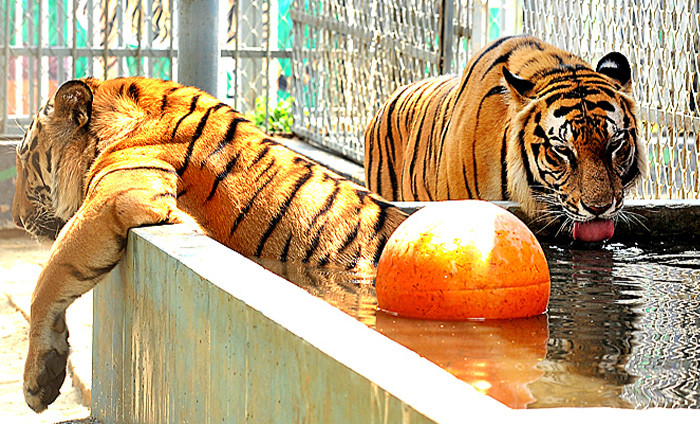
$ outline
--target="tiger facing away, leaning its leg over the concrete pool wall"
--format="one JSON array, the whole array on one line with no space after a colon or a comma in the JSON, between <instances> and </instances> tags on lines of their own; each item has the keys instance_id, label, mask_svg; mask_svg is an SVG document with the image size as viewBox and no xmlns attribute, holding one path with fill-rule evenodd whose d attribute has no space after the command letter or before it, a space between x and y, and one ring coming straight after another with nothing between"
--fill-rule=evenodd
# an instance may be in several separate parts
<instances>
[{"instance_id":1,"label":"tiger facing away, leaning its leg over the concrete pool wall","mask_svg":"<svg viewBox=\"0 0 700 424\"><path fill-rule=\"evenodd\" d=\"M187 224L251 258L371 275L406 218L172 81L61 85L17 146L13 219L55 239L33 292L23 392L36 412L66 375L66 308L124 256L130 228Z\"/></svg>"}]
</instances>

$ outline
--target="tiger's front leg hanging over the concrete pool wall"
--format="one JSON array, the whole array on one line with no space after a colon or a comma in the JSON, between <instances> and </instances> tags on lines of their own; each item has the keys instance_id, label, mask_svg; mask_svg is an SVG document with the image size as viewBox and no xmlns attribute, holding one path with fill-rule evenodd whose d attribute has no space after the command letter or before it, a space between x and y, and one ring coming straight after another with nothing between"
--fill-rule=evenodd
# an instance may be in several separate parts
<instances>
[{"instance_id":1,"label":"tiger's front leg hanging over the concrete pool wall","mask_svg":"<svg viewBox=\"0 0 700 424\"><path fill-rule=\"evenodd\" d=\"M56 399L66 376L66 309L119 263L129 229L194 222L176 206L176 177L167 171L123 171L129 170L112 170L93 184L56 239L34 289L23 389L36 412Z\"/></svg>"}]
</instances>

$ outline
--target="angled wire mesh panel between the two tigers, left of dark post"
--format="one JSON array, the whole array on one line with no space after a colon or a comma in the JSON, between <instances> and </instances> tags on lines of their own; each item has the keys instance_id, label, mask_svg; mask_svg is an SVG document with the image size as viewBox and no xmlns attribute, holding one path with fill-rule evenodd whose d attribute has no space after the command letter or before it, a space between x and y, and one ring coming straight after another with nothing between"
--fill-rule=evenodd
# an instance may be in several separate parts
<instances>
[{"instance_id":1,"label":"angled wire mesh panel between the two tigers, left of dark post","mask_svg":"<svg viewBox=\"0 0 700 424\"><path fill-rule=\"evenodd\" d=\"M400 83L436 73L439 0L298 0L293 131L362 162L361 134Z\"/></svg>"}]
</instances>

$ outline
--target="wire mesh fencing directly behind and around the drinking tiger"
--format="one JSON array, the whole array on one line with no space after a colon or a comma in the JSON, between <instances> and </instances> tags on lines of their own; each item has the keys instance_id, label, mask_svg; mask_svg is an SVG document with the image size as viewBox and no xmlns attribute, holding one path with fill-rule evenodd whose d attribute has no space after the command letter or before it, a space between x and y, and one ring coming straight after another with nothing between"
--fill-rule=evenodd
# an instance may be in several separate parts
<instances>
[{"instance_id":1,"label":"wire mesh fencing directly behind and around the drinking tiger","mask_svg":"<svg viewBox=\"0 0 700 424\"><path fill-rule=\"evenodd\" d=\"M636 196L697 199L699 16L697 0L300 1L294 129L361 163L364 125L396 88L460 73L485 43L525 32L591 63L626 54L650 160Z\"/></svg>"}]
</instances>

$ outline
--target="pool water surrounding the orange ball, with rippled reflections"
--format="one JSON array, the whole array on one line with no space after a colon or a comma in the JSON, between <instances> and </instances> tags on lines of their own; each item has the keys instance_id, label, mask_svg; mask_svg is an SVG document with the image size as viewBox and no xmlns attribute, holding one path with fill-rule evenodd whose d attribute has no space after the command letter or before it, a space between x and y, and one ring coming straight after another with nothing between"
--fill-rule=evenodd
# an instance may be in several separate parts
<instances>
[{"instance_id":1,"label":"pool water surrounding the orange ball, with rippled reflections","mask_svg":"<svg viewBox=\"0 0 700 424\"><path fill-rule=\"evenodd\" d=\"M700 251L663 241L543 248L548 311L516 320L399 318L377 312L366 281L276 272L513 408L700 408Z\"/></svg>"}]
</instances>

